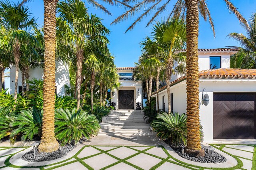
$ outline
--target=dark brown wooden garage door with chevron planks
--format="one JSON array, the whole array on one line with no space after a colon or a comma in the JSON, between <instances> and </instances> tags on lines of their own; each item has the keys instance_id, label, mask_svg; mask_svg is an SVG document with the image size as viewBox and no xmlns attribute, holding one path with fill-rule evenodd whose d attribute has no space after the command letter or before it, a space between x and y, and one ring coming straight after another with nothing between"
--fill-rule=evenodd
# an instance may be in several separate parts
<instances>
[{"instance_id":1,"label":"dark brown wooden garage door with chevron planks","mask_svg":"<svg viewBox=\"0 0 256 170\"><path fill-rule=\"evenodd\" d=\"M213 138L256 137L255 93L214 93Z\"/></svg>"}]
</instances>

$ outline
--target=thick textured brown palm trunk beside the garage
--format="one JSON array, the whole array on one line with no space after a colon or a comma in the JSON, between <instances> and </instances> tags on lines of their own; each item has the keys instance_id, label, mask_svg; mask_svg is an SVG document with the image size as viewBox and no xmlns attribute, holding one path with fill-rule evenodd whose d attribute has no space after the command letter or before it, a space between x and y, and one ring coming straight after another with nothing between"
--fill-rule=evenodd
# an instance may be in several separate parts
<instances>
[{"instance_id":1,"label":"thick textured brown palm trunk beside the garage","mask_svg":"<svg viewBox=\"0 0 256 170\"><path fill-rule=\"evenodd\" d=\"M198 0L185 0L187 7L187 146L186 153L204 156L200 145L199 75L198 75Z\"/></svg>"}]
</instances>

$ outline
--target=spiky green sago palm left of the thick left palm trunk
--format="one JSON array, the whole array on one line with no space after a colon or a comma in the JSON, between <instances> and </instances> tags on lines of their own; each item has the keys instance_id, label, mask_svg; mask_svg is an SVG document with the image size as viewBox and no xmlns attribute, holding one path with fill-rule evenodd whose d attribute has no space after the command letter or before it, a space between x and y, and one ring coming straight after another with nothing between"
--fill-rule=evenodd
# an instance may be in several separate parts
<instances>
[{"instance_id":1,"label":"spiky green sago palm left of the thick left palm trunk","mask_svg":"<svg viewBox=\"0 0 256 170\"><path fill-rule=\"evenodd\" d=\"M40 137L42 134L42 110L36 108L23 110L18 116L14 117L14 122L10 123L10 127L14 130L10 137L15 137L18 134L22 135L21 140L34 139L34 136Z\"/></svg>"}]
</instances>

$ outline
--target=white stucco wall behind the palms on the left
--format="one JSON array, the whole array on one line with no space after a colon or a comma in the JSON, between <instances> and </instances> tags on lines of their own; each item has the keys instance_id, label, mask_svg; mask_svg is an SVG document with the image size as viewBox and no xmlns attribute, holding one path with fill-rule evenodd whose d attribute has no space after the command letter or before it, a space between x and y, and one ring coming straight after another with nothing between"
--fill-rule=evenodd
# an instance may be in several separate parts
<instances>
[{"instance_id":1,"label":"white stucco wall behind the palms on the left","mask_svg":"<svg viewBox=\"0 0 256 170\"><path fill-rule=\"evenodd\" d=\"M30 79L43 79L44 71L41 67L37 67L34 69L30 69L29 71ZM64 85L70 86L69 82L69 72L68 66L62 62L56 62L56 73L55 73L55 80L56 80L56 87L57 87L57 95L64 95L65 94L65 87ZM19 71L18 77L18 86L21 86L21 72ZM15 67L10 69L10 93L13 94L15 89Z\"/></svg>"}]
</instances>

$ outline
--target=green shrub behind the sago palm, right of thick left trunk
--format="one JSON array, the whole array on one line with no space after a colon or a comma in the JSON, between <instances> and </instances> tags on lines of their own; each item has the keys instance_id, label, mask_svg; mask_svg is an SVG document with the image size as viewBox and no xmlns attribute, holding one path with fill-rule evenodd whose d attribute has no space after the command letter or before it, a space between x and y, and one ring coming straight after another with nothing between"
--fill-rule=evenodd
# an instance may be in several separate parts
<instances>
[{"instance_id":1,"label":"green shrub behind the sago palm, right of thick left trunk","mask_svg":"<svg viewBox=\"0 0 256 170\"><path fill-rule=\"evenodd\" d=\"M55 98L55 109L73 109L77 105L77 100L70 96Z\"/></svg>"}]
</instances>

